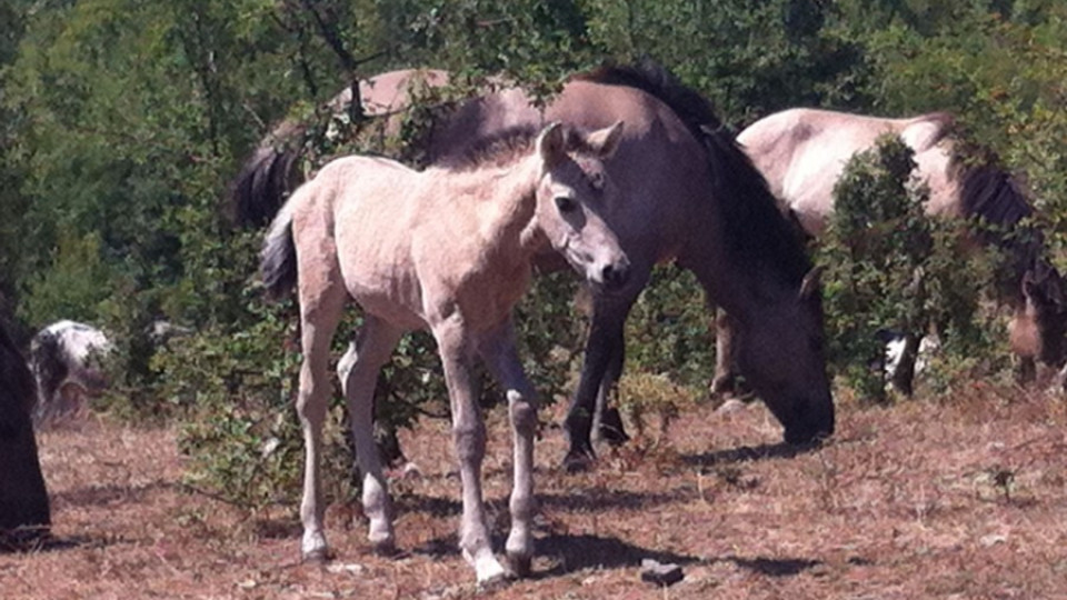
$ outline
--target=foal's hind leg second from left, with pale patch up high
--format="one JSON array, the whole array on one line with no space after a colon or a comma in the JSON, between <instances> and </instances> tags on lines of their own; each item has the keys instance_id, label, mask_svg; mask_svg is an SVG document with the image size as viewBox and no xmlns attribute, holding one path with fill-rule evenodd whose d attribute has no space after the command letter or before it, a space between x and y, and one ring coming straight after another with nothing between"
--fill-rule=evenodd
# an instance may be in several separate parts
<instances>
[{"instance_id":1,"label":"foal's hind leg second from left, with pale patch up high","mask_svg":"<svg viewBox=\"0 0 1067 600\"><path fill-rule=\"evenodd\" d=\"M375 383L378 371L400 341L402 330L368 314L356 340L337 363L337 374L348 403L348 414L356 443L356 459L362 474L363 512L370 520L367 538L375 550L395 550L392 511L389 491L381 473L381 460L375 441Z\"/></svg>"}]
</instances>

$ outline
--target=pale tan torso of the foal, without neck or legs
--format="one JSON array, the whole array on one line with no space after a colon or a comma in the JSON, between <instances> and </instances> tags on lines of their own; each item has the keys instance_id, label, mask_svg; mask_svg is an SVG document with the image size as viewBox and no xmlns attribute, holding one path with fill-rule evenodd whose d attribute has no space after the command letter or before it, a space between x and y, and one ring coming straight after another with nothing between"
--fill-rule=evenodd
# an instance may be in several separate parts
<instances>
[{"instance_id":1,"label":"pale tan torso of the foal, without neck or legs","mask_svg":"<svg viewBox=\"0 0 1067 600\"><path fill-rule=\"evenodd\" d=\"M473 171L337 159L293 209L298 248L317 249L301 262L323 263L303 272L320 273L315 290L340 276L366 311L405 329L426 327L441 303L499 312L485 314L499 321L525 290L529 266L488 256L500 232L486 224L505 202L483 198L486 183L487 176Z\"/></svg>"}]
</instances>

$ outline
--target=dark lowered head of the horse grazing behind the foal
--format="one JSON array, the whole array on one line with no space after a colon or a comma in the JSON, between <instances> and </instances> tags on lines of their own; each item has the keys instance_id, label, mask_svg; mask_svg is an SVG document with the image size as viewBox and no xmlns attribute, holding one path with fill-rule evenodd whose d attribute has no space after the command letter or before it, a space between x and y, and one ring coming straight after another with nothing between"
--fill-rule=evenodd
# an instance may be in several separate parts
<instances>
[{"instance_id":1,"label":"dark lowered head of the horse grazing behind the foal","mask_svg":"<svg viewBox=\"0 0 1067 600\"><path fill-rule=\"evenodd\" d=\"M768 298L755 318L738 323L738 366L781 422L788 443L834 433L819 272L811 269L799 291L777 288L777 298Z\"/></svg>"}]
</instances>

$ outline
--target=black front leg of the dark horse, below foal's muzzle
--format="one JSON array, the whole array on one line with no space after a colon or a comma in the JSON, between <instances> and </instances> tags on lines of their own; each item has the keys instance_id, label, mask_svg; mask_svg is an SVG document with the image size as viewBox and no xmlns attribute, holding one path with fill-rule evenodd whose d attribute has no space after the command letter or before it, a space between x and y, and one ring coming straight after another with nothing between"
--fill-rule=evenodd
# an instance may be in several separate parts
<instances>
[{"instance_id":1,"label":"black front leg of the dark horse, below foal's muzzle","mask_svg":"<svg viewBox=\"0 0 1067 600\"><path fill-rule=\"evenodd\" d=\"M625 343L624 326L630 307L645 281L647 271L640 274L636 269L631 271L631 281L636 283L625 294L612 294L610 298L597 296L592 304L592 324L589 328L589 341L586 342L586 356L581 366L581 378L578 389L571 399L567 411L567 436L570 448L564 459L568 471L580 470L596 458L592 450L590 433L592 420L597 410L597 396L606 383L605 378L612 358L619 360ZM619 366L621 373L621 366ZM607 382L610 386L612 382Z\"/></svg>"}]
</instances>

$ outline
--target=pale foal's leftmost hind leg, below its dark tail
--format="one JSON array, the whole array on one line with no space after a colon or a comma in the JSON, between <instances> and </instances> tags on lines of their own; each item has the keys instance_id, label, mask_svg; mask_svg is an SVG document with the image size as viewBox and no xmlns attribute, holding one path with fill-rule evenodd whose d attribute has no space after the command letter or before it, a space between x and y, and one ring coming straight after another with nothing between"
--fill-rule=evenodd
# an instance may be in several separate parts
<instances>
[{"instance_id":1,"label":"pale foal's leftmost hind leg, below its dark tail","mask_svg":"<svg viewBox=\"0 0 1067 600\"><path fill-rule=\"evenodd\" d=\"M321 259L320 259L321 260ZM309 258L310 262L310 258ZM340 273L330 276L336 266L301 264L303 276L300 288L300 332L303 362L300 367L300 391L297 394L297 414L303 432L303 500L300 502L300 520L303 539L300 550L305 560L326 560L329 548L322 530L326 506L319 483L319 454L322 446L322 421L326 419L327 399L330 393L329 353L333 332L341 320L348 293L340 284ZM301 283L302 283L301 281ZM335 284L326 282L333 281ZM321 282L316 286L316 282Z\"/></svg>"}]
</instances>

